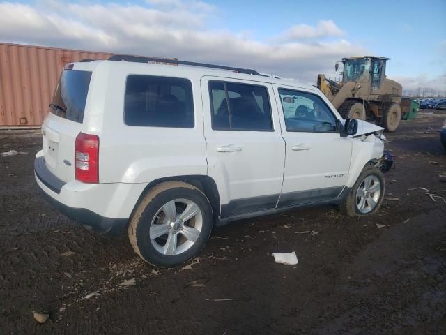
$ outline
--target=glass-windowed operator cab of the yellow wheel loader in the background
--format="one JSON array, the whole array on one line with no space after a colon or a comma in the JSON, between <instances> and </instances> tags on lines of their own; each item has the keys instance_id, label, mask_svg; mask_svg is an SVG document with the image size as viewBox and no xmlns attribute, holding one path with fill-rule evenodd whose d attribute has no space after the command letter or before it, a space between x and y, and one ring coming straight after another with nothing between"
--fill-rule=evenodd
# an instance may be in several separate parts
<instances>
[{"instance_id":1,"label":"glass-windowed operator cab of the yellow wheel loader in the background","mask_svg":"<svg viewBox=\"0 0 446 335\"><path fill-rule=\"evenodd\" d=\"M387 60L389 58L369 56L342 59L344 64L342 83L360 82L364 85L369 84L371 92L378 91L385 79L385 63Z\"/></svg>"}]
</instances>

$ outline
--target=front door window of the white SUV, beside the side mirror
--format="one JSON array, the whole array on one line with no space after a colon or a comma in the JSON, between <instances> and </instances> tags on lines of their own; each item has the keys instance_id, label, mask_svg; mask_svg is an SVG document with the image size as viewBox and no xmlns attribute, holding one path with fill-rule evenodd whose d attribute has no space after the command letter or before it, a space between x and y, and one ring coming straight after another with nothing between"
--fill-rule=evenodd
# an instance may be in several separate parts
<instances>
[{"instance_id":1,"label":"front door window of the white SUV, beside the side mirror","mask_svg":"<svg viewBox=\"0 0 446 335\"><path fill-rule=\"evenodd\" d=\"M336 118L316 94L279 89L286 131L308 133L337 131Z\"/></svg>"}]
</instances>

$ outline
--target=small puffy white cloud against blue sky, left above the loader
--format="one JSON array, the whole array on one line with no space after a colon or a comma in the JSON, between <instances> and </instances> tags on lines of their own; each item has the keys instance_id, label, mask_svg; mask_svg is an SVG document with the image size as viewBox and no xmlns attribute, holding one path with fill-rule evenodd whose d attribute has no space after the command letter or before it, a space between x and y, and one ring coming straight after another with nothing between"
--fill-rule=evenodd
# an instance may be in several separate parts
<instances>
[{"instance_id":1,"label":"small puffy white cloud against blue sky, left above the loader","mask_svg":"<svg viewBox=\"0 0 446 335\"><path fill-rule=\"evenodd\" d=\"M308 24L296 24L284 33L286 38L292 40L342 35L344 35L344 31L337 27L332 20L321 20L316 27L309 26Z\"/></svg>"}]
</instances>

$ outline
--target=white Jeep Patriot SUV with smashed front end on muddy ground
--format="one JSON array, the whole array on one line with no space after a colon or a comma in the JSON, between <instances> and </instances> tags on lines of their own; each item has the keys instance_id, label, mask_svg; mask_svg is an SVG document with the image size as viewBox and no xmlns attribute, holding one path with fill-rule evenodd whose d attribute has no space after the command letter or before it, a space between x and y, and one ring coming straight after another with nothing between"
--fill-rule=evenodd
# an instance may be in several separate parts
<instances>
[{"instance_id":1,"label":"white Jeep Patriot SUV with smashed front end on muddy ground","mask_svg":"<svg viewBox=\"0 0 446 335\"><path fill-rule=\"evenodd\" d=\"M328 203L373 213L392 163L382 131L298 82L115 56L64 68L34 167L63 214L128 228L141 258L171 267L214 224Z\"/></svg>"}]
</instances>

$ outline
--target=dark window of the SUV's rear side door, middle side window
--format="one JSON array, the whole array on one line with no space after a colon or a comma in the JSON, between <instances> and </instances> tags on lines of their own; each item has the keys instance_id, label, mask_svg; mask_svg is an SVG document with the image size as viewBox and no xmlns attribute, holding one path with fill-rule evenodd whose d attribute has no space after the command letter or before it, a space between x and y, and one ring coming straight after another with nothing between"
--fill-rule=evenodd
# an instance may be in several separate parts
<instances>
[{"instance_id":1,"label":"dark window of the SUV's rear side door, middle side window","mask_svg":"<svg viewBox=\"0 0 446 335\"><path fill-rule=\"evenodd\" d=\"M220 131L272 131L268 89L233 82L209 82L212 128Z\"/></svg>"}]
</instances>

